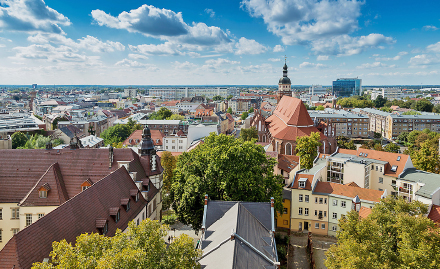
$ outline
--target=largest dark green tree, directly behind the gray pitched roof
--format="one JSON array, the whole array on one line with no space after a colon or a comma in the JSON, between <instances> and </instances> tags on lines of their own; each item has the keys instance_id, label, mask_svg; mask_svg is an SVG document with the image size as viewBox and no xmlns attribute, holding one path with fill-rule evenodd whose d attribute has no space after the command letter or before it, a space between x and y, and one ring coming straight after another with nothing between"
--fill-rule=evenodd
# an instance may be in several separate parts
<instances>
[{"instance_id":1,"label":"largest dark green tree, directly behind the gray pitched roof","mask_svg":"<svg viewBox=\"0 0 440 269\"><path fill-rule=\"evenodd\" d=\"M204 196L212 200L268 202L282 210L283 178L275 175L277 161L251 141L211 133L205 143L177 160L171 196L179 220L201 228Z\"/></svg>"}]
</instances>

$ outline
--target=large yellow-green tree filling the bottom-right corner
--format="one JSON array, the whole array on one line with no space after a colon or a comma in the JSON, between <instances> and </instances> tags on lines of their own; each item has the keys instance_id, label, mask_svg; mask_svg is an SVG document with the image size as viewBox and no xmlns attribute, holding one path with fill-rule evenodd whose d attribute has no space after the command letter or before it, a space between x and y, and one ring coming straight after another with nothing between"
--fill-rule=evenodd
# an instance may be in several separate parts
<instances>
[{"instance_id":1,"label":"large yellow-green tree filling the bottom-right corner","mask_svg":"<svg viewBox=\"0 0 440 269\"><path fill-rule=\"evenodd\" d=\"M385 198L371 214L350 211L339 220L338 244L327 251L329 269L438 268L440 229L419 201Z\"/></svg>"}]
</instances>

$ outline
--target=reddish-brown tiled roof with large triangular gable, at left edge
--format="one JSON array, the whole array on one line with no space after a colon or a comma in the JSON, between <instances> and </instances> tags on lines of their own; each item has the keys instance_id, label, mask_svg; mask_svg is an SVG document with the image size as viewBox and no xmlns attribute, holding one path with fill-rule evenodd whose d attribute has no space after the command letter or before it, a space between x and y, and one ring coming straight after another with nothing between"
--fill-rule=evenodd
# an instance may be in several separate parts
<instances>
[{"instance_id":1,"label":"reddish-brown tiled roof with large triangular gable, at left edge","mask_svg":"<svg viewBox=\"0 0 440 269\"><path fill-rule=\"evenodd\" d=\"M81 184L97 182L118 168L118 161L130 162L130 171L147 179L163 170L157 158L157 171L150 171L148 156L140 158L131 149L114 149L109 168L108 149L13 149L0 150L0 203L23 206L60 205L81 192ZM47 198L38 189L48 183Z\"/></svg>"}]
</instances>

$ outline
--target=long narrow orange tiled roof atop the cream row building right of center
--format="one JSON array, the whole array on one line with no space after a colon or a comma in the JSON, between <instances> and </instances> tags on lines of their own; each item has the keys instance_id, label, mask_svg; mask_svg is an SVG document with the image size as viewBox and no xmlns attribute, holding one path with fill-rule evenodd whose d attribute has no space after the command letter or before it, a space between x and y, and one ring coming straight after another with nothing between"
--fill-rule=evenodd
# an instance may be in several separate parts
<instances>
[{"instance_id":1,"label":"long narrow orange tiled roof atop the cream row building right of center","mask_svg":"<svg viewBox=\"0 0 440 269\"><path fill-rule=\"evenodd\" d=\"M379 202L383 191L364 189L359 187L352 187L333 182L318 181L314 192L335 194L345 197L354 198L359 196L359 199L366 201Z\"/></svg>"}]
</instances>

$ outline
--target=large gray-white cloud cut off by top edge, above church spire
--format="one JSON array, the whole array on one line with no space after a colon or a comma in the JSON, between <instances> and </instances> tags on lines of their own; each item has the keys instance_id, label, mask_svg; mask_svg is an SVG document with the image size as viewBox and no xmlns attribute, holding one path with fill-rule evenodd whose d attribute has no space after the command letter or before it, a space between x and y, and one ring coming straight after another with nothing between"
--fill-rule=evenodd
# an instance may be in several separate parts
<instances>
[{"instance_id":1,"label":"large gray-white cloud cut off by top edge, above church spire","mask_svg":"<svg viewBox=\"0 0 440 269\"><path fill-rule=\"evenodd\" d=\"M331 38L358 29L361 1L243 0L253 17L261 17L284 44Z\"/></svg>"}]
</instances>

